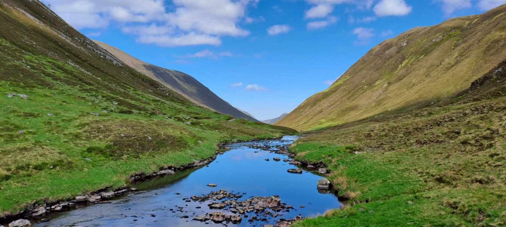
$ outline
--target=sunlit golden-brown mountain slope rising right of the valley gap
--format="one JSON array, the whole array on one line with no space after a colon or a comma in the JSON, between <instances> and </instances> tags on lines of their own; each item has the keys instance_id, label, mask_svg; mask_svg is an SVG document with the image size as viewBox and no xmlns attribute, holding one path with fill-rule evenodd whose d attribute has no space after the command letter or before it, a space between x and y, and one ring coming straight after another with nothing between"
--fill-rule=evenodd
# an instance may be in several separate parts
<instances>
[{"instance_id":1,"label":"sunlit golden-brown mountain slope rising right of the valley gap","mask_svg":"<svg viewBox=\"0 0 506 227\"><path fill-rule=\"evenodd\" d=\"M505 13L501 6L386 40L276 125L321 129L465 90L506 58Z\"/></svg>"}]
</instances>

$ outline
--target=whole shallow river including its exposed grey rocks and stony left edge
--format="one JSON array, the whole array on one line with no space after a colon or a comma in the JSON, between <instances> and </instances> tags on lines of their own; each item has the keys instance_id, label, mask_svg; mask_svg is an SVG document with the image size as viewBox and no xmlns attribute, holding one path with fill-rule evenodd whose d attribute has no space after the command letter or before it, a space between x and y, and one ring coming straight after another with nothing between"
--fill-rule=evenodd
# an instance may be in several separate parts
<instances>
[{"instance_id":1,"label":"whole shallow river including its exposed grey rocks and stony left edge","mask_svg":"<svg viewBox=\"0 0 506 227\"><path fill-rule=\"evenodd\" d=\"M285 154L294 139L227 145L228 151L215 160L196 161L198 169L133 176L126 191L34 207L31 212L40 215L30 221L35 226L289 226L339 208L337 197L325 188L327 182L320 181L327 174L325 166Z\"/></svg>"}]
</instances>

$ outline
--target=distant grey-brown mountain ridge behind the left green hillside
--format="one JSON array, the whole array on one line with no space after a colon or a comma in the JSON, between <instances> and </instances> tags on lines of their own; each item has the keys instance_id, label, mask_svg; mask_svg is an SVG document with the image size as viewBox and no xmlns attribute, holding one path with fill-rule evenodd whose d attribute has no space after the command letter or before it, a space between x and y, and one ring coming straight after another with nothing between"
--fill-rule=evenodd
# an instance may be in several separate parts
<instances>
[{"instance_id":1,"label":"distant grey-brown mountain ridge behind the left green hillside","mask_svg":"<svg viewBox=\"0 0 506 227\"><path fill-rule=\"evenodd\" d=\"M241 110L233 107L230 103L218 97L218 95L188 74L142 62L116 47L100 41L95 42L116 56L116 58L118 58L121 62L136 69L149 78L160 82L166 87L171 88L200 106L233 116L234 118L257 121L255 118L246 115Z\"/></svg>"}]
</instances>

